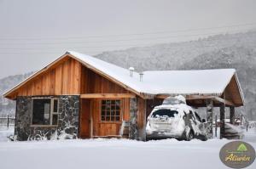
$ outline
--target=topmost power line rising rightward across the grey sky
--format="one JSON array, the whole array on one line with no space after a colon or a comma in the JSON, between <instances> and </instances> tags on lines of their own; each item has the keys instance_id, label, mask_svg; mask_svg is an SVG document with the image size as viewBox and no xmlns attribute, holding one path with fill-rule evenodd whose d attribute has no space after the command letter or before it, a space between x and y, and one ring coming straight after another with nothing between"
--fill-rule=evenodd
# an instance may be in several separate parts
<instances>
[{"instance_id":1,"label":"topmost power line rising rightward across the grey sky","mask_svg":"<svg viewBox=\"0 0 256 169\"><path fill-rule=\"evenodd\" d=\"M187 31L205 31L205 30L215 30L215 29L222 29L222 28L241 27L241 26L247 26L247 25L256 25L256 23L224 25L224 26L185 29L185 30L176 30L176 31L154 31L154 32L145 32L145 33L86 36L86 37L26 37L26 38L22 38L22 37L3 37L2 36L0 40L41 40L41 39L47 39L47 38L51 38L51 39L81 39L81 38L99 38L99 37L126 37L126 36L142 36L142 35L154 35L154 34L164 34L164 33L177 33L177 32L187 32Z\"/></svg>"}]
</instances>

